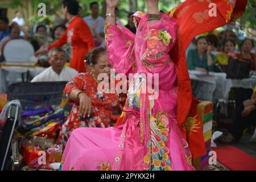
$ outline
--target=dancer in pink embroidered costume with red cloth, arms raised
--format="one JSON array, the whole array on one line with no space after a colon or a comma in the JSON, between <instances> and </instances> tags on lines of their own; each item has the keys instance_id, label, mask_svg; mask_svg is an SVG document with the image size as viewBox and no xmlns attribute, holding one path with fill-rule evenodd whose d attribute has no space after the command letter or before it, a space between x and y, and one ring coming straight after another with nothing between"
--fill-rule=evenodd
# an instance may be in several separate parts
<instances>
[{"instance_id":1,"label":"dancer in pink embroidered costume with red cloth, arms raised","mask_svg":"<svg viewBox=\"0 0 256 182\"><path fill-rule=\"evenodd\" d=\"M158 0L147 0L147 13L135 14L136 35L115 23L118 0L106 2L108 61L117 73L138 74L133 75L129 85L118 125L74 130L61 169L194 170L192 159L206 153L185 48L194 36L238 18L246 1L212 1L219 11L210 17L206 14L208 1L187 0L162 14ZM151 82L143 74L157 75L159 82L155 77ZM142 92L150 84L158 89L154 93Z\"/></svg>"}]
</instances>

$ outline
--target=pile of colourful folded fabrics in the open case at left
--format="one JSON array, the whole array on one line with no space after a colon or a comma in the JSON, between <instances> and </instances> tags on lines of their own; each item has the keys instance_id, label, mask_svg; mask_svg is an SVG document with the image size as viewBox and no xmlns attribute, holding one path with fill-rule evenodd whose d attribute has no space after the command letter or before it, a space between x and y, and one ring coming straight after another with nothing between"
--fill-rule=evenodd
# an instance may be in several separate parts
<instances>
[{"instance_id":1,"label":"pile of colourful folded fabrics in the open case at left","mask_svg":"<svg viewBox=\"0 0 256 182\"><path fill-rule=\"evenodd\" d=\"M52 164L60 165L63 150L61 144L56 144L57 131L68 116L67 110L52 106L23 111L19 133L26 166L22 170L52 170L56 169Z\"/></svg>"}]
</instances>

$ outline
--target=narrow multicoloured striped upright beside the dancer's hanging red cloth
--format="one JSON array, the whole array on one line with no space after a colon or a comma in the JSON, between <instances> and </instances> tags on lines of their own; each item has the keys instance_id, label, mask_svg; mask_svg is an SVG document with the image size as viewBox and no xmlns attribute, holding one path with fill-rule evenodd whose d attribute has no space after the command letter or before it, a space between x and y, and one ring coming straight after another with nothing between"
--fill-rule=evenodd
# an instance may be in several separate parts
<instances>
[{"instance_id":1,"label":"narrow multicoloured striped upright beside the dancer's hanging red cloth","mask_svg":"<svg viewBox=\"0 0 256 182\"><path fill-rule=\"evenodd\" d=\"M197 106L197 109L199 111L201 123L203 125L205 148L207 149L207 155L201 157L201 170L203 170L209 165L209 152L210 142L212 139L212 120L214 105L212 102L204 101Z\"/></svg>"}]
</instances>

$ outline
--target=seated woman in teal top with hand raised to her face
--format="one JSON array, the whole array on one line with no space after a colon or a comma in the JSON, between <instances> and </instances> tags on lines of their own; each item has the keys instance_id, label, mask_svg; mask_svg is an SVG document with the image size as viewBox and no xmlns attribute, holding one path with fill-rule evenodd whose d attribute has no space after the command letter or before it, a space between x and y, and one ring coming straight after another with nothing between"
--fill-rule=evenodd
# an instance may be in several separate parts
<instances>
[{"instance_id":1,"label":"seated woman in teal top with hand raised to her face","mask_svg":"<svg viewBox=\"0 0 256 182\"><path fill-rule=\"evenodd\" d=\"M210 53L210 46L207 38L201 36L196 40L196 49L191 49L187 56L189 70L202 72L213 72L214 55Z\"/></svg>"}]
</instances>

